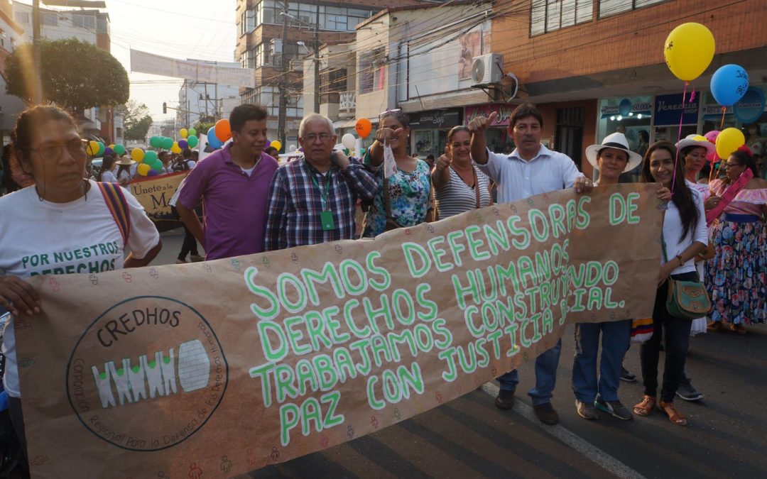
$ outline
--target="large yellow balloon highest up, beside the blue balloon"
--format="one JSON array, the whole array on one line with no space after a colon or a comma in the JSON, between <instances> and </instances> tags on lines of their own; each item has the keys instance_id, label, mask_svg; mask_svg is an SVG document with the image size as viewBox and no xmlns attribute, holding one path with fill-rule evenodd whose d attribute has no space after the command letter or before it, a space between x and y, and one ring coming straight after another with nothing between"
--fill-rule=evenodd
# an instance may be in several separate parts
<instances>
[{"instance_id":1,"label":"large yellow balloon highest up, beside the blue balloon","mask_svg":"<svg viewBox=\"0 0 767 479\"><path fill-rule=\"evenodd\" d=\"M714 36L700 23L674 28L663 44L663 56L671 73L684 81L700 77L714 57Z\"/></svg>"}]
</instances>

